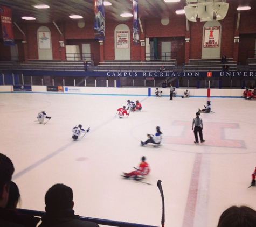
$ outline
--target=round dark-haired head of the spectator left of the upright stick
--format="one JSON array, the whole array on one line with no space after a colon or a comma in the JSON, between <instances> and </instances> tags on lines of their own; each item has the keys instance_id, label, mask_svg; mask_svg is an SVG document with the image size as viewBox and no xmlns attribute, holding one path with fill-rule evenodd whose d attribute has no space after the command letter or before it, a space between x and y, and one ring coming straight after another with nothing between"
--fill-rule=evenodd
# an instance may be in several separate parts
<instances>
[{"instance_id":1,"label":"round dark-haired head of the spectator left of the upright stick","mask_svg":"<svg viewBox=\"0 0 256 227\"><path fill-rule=\"evenodd\" d=\"M45 205L46 212L72 209L74 207L72 189L62 183L53 185L45 194Z\"/></svg>"}]
</instances>

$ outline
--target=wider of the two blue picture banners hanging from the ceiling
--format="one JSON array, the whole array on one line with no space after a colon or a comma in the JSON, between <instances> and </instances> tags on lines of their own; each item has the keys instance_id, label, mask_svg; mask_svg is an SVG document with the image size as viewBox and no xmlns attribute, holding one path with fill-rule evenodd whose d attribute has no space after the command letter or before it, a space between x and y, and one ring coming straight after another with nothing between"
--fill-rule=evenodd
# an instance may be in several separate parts
<instances>
[{"instance_id":1,"label":"wider of the two blue picture banners hanging from the ceiling","mask_svg":"<svg viewBox=\"0 0 256 227\"><path fill-rule=\"evenodd\" d=\"M95 39L105 39L104 0L94 0L94 36Z\"/></svg>"}]
</instances>

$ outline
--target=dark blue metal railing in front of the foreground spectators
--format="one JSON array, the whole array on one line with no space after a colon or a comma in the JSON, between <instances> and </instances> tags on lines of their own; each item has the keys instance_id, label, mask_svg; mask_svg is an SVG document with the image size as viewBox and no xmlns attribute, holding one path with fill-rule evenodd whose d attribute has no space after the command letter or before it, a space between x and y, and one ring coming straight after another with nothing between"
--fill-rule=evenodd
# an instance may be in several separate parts
<instances>
[{"instance_id":1,"label":"dark blue metal railing in front of the foreground spectators","mask_svg":"<svg viewBox=\"0 0 256 227\"><path fill-rule=\"evenodd\" d=\"M45 212L43 211L36 211L36 210L25 210L25 209L17 209L21 214L25 215L33 215L37 217L44 216ZM153 225L142 225L142 224L135 224L129 222L119 222L119 221L112 221L107 219L99 219L99 218L91 218L91 217L81 217L79 218L82 221L89 221L94 222L99 225L108 225L108 226L116 226L116 227L156 227Z\"/></svg>"}]
</instances>

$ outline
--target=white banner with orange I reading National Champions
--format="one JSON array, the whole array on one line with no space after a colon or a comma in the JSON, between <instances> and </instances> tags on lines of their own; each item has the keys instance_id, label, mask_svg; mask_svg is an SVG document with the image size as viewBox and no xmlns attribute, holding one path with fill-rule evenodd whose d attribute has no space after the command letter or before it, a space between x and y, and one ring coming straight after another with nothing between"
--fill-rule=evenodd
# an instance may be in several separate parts
<instances>
[{"instance_id":1,"label":"white banner with orange I reading National Champions","mask_svg":"<svg viewBox=\"0 0 256 227\"><path fill-rule=\"evenodd\" d=\"M204 27L204 48L219 47L219 26Z\"/></svg>"}]
</instances>

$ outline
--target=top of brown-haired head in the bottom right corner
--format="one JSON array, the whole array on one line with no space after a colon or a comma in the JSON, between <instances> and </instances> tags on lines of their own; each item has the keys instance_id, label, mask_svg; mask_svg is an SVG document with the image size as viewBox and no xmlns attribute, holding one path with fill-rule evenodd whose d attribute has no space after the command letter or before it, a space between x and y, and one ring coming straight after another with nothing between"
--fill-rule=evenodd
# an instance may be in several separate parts
<instances>
[{"instance_id":1,"label":"top of brown-haired head in the bottom right corner","mask_svg":"<svg viewBox=\"0 0 256 227\"><path fill-rule=\"evenodd\" d=\"M219 218L217 227L253 227L256 226L256 211L250 207L232 206Z\"/></svg>"}]
</instances>

